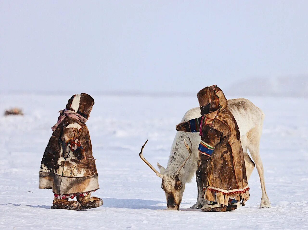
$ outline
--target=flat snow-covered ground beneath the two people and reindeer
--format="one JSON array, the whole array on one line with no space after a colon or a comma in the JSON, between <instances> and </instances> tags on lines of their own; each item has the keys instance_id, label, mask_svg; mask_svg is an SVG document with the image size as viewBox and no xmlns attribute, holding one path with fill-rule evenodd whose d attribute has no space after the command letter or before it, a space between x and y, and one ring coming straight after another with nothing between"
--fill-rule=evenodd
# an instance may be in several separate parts
<instances>
[{"instance_id":1,"label":"flat snow-covered ground beneath the two people and reindeer","mask_svg":"<svg viewBox=\"0 0 308 230\"><path fill-rule=\"evenodd\" d=\"M78 93L78 92L77 92ZM187 184L180 211L167 211L161 179L139 158L166 166L175 125L198 106L196 97L92 96L87 122L102 207L51 210L51 190L38 189L39 167L51 126L71 95L1 95L0 111L22 107L24 116L0 117L0 228L205 229L308 228L308 99L249 98L265 115L261 158L272 208L259 209L257 170L245 207L225 213L187 209L197 197Z\"/></svg>"}]
</instances>

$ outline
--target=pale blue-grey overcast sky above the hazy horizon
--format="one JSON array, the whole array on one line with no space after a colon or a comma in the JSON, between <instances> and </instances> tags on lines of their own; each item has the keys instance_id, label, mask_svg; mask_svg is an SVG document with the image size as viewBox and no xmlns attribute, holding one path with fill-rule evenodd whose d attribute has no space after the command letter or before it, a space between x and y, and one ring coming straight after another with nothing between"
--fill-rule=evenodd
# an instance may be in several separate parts
<instances>
[{"instance_id":1,"label":"pale blue-grey overcast sky above the hazy horizon","mask_svg":"<svg viewBox=\"0 0 308 230\"><path fill-rule=\"evenodd\" d=\"M198 92L308 73L308 1L0 1L0 90Z\"/></svg>"}]
</instances>

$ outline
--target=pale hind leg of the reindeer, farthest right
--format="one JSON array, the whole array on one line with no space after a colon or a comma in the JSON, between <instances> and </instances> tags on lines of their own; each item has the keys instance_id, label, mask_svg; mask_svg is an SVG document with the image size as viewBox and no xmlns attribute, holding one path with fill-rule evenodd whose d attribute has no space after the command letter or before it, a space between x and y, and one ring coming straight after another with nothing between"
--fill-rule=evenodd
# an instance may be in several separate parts
<instances>
[{"instance_id":1,"label":"pale hind leg of the reindeer, farthest right","mask_svg":"<svg viewBox=\"0 0 308 230\"><path fill-rule=\"evenodd\" d=\"M248 132L248 140L249 140L249 153L253 158L254 163L256 164L256 168L260 177L262 197L260 208L271 207L270 199L268 198L265 190L265 179L264 179L264 169L263 164L260 157L260 137L261 133L257 132L257 128L253 128ZM262 131L262 128L261 128Z\"/></svg>"}]
</instances>

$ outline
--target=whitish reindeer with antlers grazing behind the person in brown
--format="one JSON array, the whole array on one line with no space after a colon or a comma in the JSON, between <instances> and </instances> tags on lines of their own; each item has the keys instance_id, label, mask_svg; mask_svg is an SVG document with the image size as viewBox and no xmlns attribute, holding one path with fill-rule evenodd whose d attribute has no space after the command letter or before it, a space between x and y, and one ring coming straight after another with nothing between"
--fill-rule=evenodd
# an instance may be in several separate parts
<instances>
[{"instance_id":1,"label":"whitish reindeer with antlers grazing behind the person in brown","mask_svg":"<svg viewBox=\"0 0 308 230\"><path fill-rule=\"evenodd\" d=\"M245 98L228 100L228 107L240 130L247 179L249 180L254 166L256 165L262 191L260 208L271 207L270 200L265 191L264 170L259 153L262 125L265 115L261 109ZM199 107L188 110L182 118L181 123L200 117L200 112ZM188 147L185 139L191 141L191 148ZM199 136L199 133L177 132L172 143L167 168L157 163L160 172L143 157L143 148L147 141L141 148L139 154L140 158L162 179L161 188L166 195L168 210L179 210L185 184L191 182L193 176L196 174L199 161L198 146L200 141L201 136ZM253 161L247 150L249 150ZM197 203L190 208L200 209L203 206L204 198L202 197L202 188L198 186L197 177L196 180L198 189Z\"/></svg>"}]
</instances>

